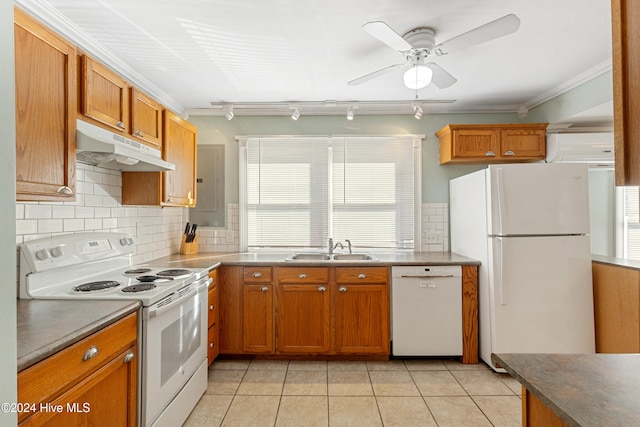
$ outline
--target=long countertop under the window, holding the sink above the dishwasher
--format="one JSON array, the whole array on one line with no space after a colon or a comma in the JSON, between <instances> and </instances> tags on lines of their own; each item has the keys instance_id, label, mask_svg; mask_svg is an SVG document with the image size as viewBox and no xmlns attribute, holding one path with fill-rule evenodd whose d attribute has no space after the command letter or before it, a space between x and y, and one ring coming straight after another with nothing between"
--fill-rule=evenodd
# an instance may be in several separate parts
<instances>
[{"instance_id":1,"label":"long countertop under the window, holding the sink above the dishwasher","mask_svg":"<svg viewBox=\"0 0 640 427\"><path fill-rule=\"evenodd\" d=\"M311 251L300 251L311 252ZM359 252L359 251L354 251ZM334 265L371 267L389 265L480 265L480 262L452 252L371 252L378 261L285 261L291 252L243 252L199 253L194 255L170 255L148 262L149 265L166 265L182 268L216 268L223 265Z\"/></svg>"}]
</instances>

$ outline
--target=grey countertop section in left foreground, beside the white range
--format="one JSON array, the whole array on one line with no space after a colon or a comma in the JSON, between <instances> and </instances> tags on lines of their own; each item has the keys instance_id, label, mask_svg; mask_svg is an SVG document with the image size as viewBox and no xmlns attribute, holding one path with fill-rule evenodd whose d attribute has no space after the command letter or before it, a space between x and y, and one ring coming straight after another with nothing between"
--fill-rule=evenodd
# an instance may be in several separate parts
<instances>
[{"instance_id":1,"label":"grey countertop section in left foreground, beside the white range","mask_svg":"<svg viewBox=\"0 0 640 427\"><path fill-rule=\"evenodd\" d=\"M18 372L140 308L139 301L17 301Z\"/></svg>"}]
</instances>

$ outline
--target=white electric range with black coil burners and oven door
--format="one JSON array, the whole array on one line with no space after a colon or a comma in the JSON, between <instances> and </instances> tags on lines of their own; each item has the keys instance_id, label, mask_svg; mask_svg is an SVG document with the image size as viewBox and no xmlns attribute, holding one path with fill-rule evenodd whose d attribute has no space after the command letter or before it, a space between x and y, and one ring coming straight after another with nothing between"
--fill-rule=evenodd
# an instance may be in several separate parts
<instances>
[{"instance_id":1,"label":"white electric range with black coil burners and oven door","mask_svg":"<svg viewBox=\"0 0 640 427\"><path fill-rule=\"evenodd\" d=\"M125 233L78 233L20 247L20 298L137 300L139 421L181 425L207 387L207 269L132 265Z\"/></svg>"}]
</instances>

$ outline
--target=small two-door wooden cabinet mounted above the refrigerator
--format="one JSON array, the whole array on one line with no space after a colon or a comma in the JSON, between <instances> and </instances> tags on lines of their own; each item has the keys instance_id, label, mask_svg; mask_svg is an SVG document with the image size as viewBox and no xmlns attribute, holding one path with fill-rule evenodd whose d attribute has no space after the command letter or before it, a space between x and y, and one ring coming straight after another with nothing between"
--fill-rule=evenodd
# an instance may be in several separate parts
<instances>
[{"instance_id":1,"label":"small two-door wooden cabinet mounted above the refrigerator","mask_svg":"<svg viewBox=\"0 0 640 427\"><path fill-rule=\"evenodd\" d=\"M440 164L542 160L546 128L546 123L447 125L436 132Z\"/></svg>"}]
</instances>

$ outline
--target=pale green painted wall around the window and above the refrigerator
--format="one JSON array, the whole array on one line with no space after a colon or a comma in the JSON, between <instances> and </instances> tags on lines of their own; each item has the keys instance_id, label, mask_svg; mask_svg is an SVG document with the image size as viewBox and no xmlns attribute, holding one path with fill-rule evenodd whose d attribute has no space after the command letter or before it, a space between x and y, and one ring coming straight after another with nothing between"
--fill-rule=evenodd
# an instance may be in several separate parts
<instances>
[{"instance_id":1,"label":"pale green painted wall around the window and above the refrigerator","mask_svg":"<svg viewBox=\"0 0 640 427\"><path fill-rule=\"evenodd\" d=\"M529 111L521 119L515 113L504 114L425 114L417 120L412 115L364 116L353 121L344 116L304 116L298 121L288 116L191 116L198 128L198 144L224 144L226 203L238 203L238 147L241 135L345 135L345 134L424 134L422 145L422 201L449 201L449 180L481 169L484 165L438 164L438 140L434 135L449 123L555 123L582 111L611 101L611 72L579 85Z\"/></svg>"}]
</instances>

